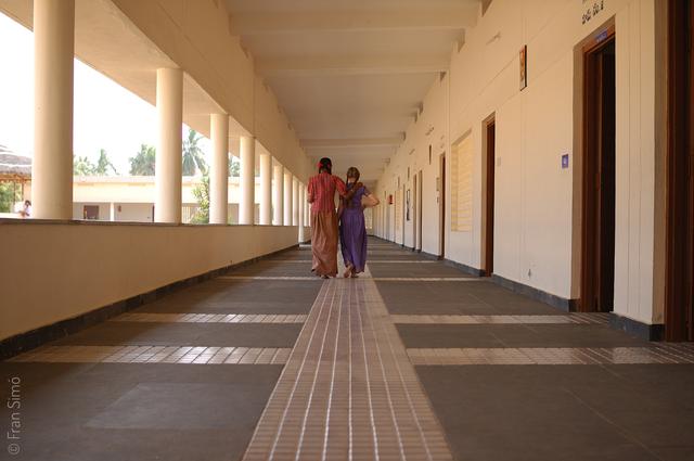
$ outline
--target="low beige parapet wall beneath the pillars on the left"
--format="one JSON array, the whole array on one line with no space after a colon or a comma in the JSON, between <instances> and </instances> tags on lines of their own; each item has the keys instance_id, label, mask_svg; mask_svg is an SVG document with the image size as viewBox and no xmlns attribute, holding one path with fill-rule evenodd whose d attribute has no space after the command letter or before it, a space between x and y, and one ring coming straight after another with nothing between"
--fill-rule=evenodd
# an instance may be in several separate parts
<instances>
[{"instance_id":1,"label":"low beige parapet wall beneath the pillars on the left","mask_svg":"<svg viewBox=\"0 0 694 461\"><path fill-rule=\"evenodd\" d=\"M0 340L296 245L297 235L296 227L2 221Z\"/></svg>"}]
</instances>

